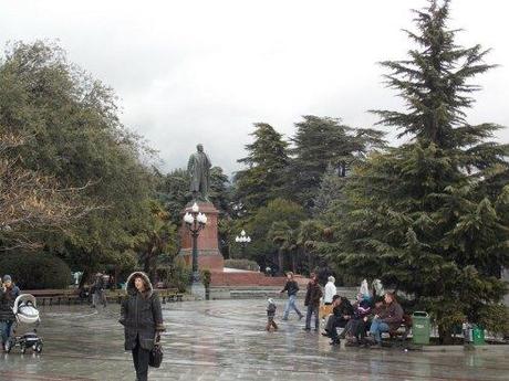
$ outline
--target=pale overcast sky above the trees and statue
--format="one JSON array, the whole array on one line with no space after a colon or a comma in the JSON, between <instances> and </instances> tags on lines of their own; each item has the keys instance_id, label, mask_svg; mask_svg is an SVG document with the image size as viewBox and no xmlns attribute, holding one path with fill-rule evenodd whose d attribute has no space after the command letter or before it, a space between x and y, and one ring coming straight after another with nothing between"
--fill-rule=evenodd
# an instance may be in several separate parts
<instances>
[{"instance_id":1,"label":"pale overcast sky above the trees and statue","mask_svg":"<svg viewBox=\"0 0 509 381\"><path fill-rule=\"evenodd\" d=\"M256 121L287 137L302 115L356 127L373 108L401 108L376 65L404 59L411 8L424 0L0 0L0 45L59 40L70 61L118 94L124 124L183 167L204 142L214 165L238 169ZM509 126L508 2L454 0L458 42L492 47L500 67L479 77L470 123ZM392 134L392 142L394 140ZM499 134L509 142L509 129Z\"/></svg>"}]
</instances>

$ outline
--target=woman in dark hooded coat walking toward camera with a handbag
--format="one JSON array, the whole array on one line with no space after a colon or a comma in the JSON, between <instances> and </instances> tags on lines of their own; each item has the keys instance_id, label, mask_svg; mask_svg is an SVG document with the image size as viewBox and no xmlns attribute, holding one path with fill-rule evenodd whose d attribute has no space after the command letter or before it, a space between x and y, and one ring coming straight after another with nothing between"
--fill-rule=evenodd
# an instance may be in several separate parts
<instances>
[{"instance_id":1,"label":"woman in dark hooded coat walking toward camera with a handbag","mask_svg":"<svg viewBox=\"0 0 509 381\"><path fill-rule=\"evenodd\" d=\"M125 350L133 352L136 380L146 381L156 332L165 330L160 301L150 279L142 272L129 275L126 288L127 298L122 303L120 319L124 326Z\"/></svg>"}]
</instances>

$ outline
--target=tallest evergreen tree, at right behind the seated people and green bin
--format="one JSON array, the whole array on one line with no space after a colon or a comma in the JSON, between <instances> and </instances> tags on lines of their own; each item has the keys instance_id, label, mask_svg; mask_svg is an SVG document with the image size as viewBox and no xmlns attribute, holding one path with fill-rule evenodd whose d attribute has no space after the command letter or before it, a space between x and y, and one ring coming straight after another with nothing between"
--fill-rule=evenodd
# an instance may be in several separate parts
<instances>
[{"instance_id":1,"label":"tallest evergreen tree, at right behind the seated people and green bin","mask_svg":"<svg viewBox=\"0 0 509 381\"><path fill-rule=\"evenodd\" d=\"M497 275L509 265L508 147L488 140L499 126L465 117L478 89L471 77L492 66L479 45L456 45L448 11L449 1L435 0L415 11L417 32L407 34L417 47L382 63L407 109L376 113L412 140L360 166L336 242L321 247L354 275L407 293L433 314L444 341L465 320L491 329L507 321Z\"/></svg>"}]
</instances>

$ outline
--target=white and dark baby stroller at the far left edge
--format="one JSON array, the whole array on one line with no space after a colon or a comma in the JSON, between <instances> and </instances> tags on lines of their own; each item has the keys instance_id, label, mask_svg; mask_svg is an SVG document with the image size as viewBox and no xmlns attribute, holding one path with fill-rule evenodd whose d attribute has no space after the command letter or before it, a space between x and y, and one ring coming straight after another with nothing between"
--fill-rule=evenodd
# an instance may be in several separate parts
<instances>
[{"instance_id":1,"label":"white and dark baby stroller at the far left edge","mask_svg":"<svg viewBox=\"0 0 509 381\"><path fill-rule=\"evenodd\" d=\"M22 294L14 300L14 307L12 311L15 316L15 324L12 328L12 336L8 342L6 342L6 351L10 352L15 346L20 346L21 353L24 353L28 348L32 348L32 351L37 353L42 352L42 339L37 335L37 327L41 319L39 318L39 310L37 309L35 297L30 294ZM23 335L15 335L18 328L22 325L35 325L33 331L25 332Z\"/></svg>"}]
</instances>

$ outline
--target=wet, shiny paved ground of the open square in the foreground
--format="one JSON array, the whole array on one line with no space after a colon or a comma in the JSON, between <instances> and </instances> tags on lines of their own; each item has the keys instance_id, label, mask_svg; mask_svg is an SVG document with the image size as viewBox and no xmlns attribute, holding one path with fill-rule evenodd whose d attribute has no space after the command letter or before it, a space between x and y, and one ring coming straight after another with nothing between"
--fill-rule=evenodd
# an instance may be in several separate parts
<instances>
[{"instance_id":1,"label":"wet, shiny paved ground of the open square in the foreground","mask_svg":"<svg viewBox=\"0 0 509 381\"><path fill-rule=\"evenodd\" d=\"M508 380L509 353L333 348L290 315L266 332L264 300L164 305L165 358L149 380ZM135 380L120 307L41 308L42 354L0 353L0 380Z\"/></svg>"}]
</instances>

